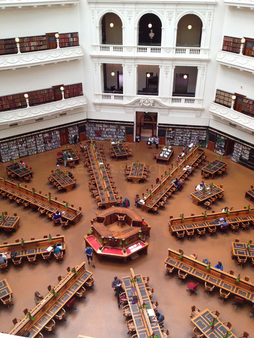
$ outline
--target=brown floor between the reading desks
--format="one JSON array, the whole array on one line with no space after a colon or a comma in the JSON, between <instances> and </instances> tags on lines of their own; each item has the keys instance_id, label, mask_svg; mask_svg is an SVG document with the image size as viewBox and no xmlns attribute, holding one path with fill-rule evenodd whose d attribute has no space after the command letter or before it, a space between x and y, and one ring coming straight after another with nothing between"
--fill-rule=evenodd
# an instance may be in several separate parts
<instances>
[{"instance_id":1,"label":"brown floor between the reading desks","mask_svg":"<svg viewBox=\"0 0 254 338\"><path fill-rule=\"evenodd\" d=\"M133 149L134 157L128 161L111 161L109 158L109 143L104 144L105 155L110 163L111 174L115 181L118 194L123 198L129 197L131 207L134 207L134 197L136 194L142 195L147 187L155 183L155 178L164 173L166 167L164 165L156 165L155 160L152 159L152 152L155 149L148 149L145 142L131 143L130 147ZM79 147L75 147L79 150ZM176 161L177 155L180 153L182 147L175 146L174 157L170 164ZM44 235L55 235L57 232L64 234L66 237L66 255L61 265L56 264L52 259L50 265L45 266L43 260L38 259L38 265L30 267L27 262L23 263L23 268L16 270L10 264L9 272L2 273L1 279L7 278L13 290L13 303L8 311L2 304L0 304L1 323L0 329L4 332L9 332L12 329L12 319L22 318L23 309L33 309L34 292L38 290L41 294L47 293L47 286L49 284L55 285L57 283L57 276L65 276L66 268L80 264L86 260L84 255L85 243L83 236L90 230L90 219L95 217L98 212L95 200L90 197L88 190L89 175L87 169L83 167L83 155L78 166L71 169L77 178L77 187L68 193L59 194L49 185L47 176L51 169L56 167L56 153L58 149L42 154L37 154L24 158L28 166L33 167L34 177L29 187L35 187L41 190L44 194L51 192L53 197L58 196L60 200L67 200L69 203L74 203L76 207L82 207L83 217L75 225L71 226L65 231L60 228L53 227L52 222L45 218L39 217L39 213L32 213L31 210L23 210L22 206L16 207L15 204L8 200L0 200L0 211L8 211L8 214L17 212L20 216L20 228L17 233L7 239L6 235L0 233L0 242L8 241L14 242L16 238L24 238L28 240L30 237L42 238ZM217 154L205 151L207 160L213 160ZM124 179L123 169L125 164L130 165L133 160L145 162L150 166L150 173L146 183L133 184L126 182ZM217 202L211 210L220 211L222 208L234 207L234 209L243 208L248 205L248 201L244 198L245 190L249 189L250 185L254 183L254 172L238 165L224 157L224 161L228 163L227 173L223 177L216 177L213 182L215 184L223 184L225 189L225 197L223 201ZM6 176L5 166L7 164L0 164L0 176ZM63 166L61 166L63 168ZM209 258L212 265L215 265L218 260L221 260L224 265L224 270L234 270L240 273L241 276L250 276L252 283L254 283L253 267L250 262L241 268L236 265L236 261L230 257L231 241L239 238L246 242L248 239L254 240L254 230L248 229L247 232L240 230L236 234L231 231L227 235L217 234L214 237L206 236L204 239L193 238L191 241L184 240L183 242L176 241L175 237L169 234L167 219L170 215L178 217L181 212L184 215L190 213L200 214L206 210L202 206L197 206L192 203L190 193L195 189L195 186L202 180L201 166L196 169L193 176L191 176L184 184L182 191L176 192L167 202L165 210L160 210L157 215L147 214L136 209L139 214L145 217L145 220L151 224L151 237L148 247L148 255L141 255L138 259L128 261L127 266L123 266L119 260L103 259L99 264L96 255L94 255L94 263L96 269L90 268L86 265L89 271L93 272L95 279L95 286L93 290L86 292L86 299L82 302L76 302L77 311L73 311L67 315L67 321L61 324L57 323L55 328L55 336L61 338L76 338L78 334L88 335L94 338L110 338L110 337L127 337L128 329L126 327L122 310L118 309L116 297L111 288L111 281L114 276L119 278L130 275L130 268L134 272L141 273L143 276L150 277L150 286L154 288L153 299L159 303L158 311L163 313L166 317L165 328L170 331L170 337L192 337L193 324L190 322L190 307L196 305L200 309L209 308L210 310L218 309L220 319L224 322L231 321L233 323L232 331L237 335L243 333L244 330L249 331L253 335L254 332L254 318L249 318L249 310L251 304L245 304L244 308L236 310L233 303L233 296L231 296L224 304L221 303L219 297L219 290L216 289L210 296L204 291L204 284L199 284L197 295L190 296L186 292L187 283L192 278L188 277L185 282L180 283L177 279L177 274L165 276L164 260L168 255L167 249L173 248L178 250L181 247L185 254L195 252L198 254L198 259ZM210 180L207 180L210 183ZM49 336L48 333L43 332L44 336Z\"/></svg>"}]
</instances>

